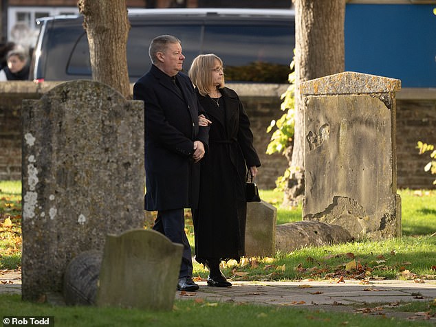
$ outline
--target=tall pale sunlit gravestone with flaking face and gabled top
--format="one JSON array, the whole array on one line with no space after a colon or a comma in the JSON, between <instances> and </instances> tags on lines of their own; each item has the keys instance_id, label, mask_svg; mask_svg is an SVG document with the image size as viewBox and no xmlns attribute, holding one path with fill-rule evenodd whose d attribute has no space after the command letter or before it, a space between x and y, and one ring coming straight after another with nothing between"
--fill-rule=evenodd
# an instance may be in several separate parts
<instances>
[{"instance_id":1,"label":"tall pale sunlit gravestone with flaking face and gabled top","mask_svg":"<svg viewBox=\"0 0 436 327\"><path fill-rule=\"evenodd\" d=\"M354 238L401 235L395 91L400 80L345 72L301 84L305 105L303 220Z\"/></svg>"}]
</instances>

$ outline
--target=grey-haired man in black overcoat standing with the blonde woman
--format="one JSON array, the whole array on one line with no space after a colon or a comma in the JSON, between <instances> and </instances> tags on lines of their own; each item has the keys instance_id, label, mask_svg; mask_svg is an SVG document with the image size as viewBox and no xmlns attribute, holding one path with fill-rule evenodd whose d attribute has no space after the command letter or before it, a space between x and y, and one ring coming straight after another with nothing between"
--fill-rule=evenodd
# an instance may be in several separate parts
<instances>
[{"instance_id":1,"label":"grey-haired man in black overcoat standing with the blonde woman","mask_svg":"<svg viewBox=\"0 0 436 327\"><path fill-rule=\"evenodd\" d=\"M193 263L184 232L184 208L197 207L199 161L208 148L208 127L199 126L199 105L188 76L179 74L184 55L174 36L151 41L150 71L133 87L133 98L145 110L145 210L157 210L153 229L184 245L179 291L197 291Z\"/></svg>"}]
</instances>

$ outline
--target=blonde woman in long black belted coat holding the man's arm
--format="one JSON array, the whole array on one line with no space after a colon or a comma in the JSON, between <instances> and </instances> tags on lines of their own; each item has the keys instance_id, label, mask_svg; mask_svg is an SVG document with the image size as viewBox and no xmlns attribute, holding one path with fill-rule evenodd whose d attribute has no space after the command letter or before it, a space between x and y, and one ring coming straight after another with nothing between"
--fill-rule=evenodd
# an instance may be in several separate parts
<instances>
[{"instance_id":1,"label":"blonde woman in long black belted coat holding the man's arm","mask_svg":"<svg viewBox=\"0 0 436 327\"><path fill-rule=\"evenodd\" d=\"M209 270L208 285L228 287L221 260L245 255L246 173L256 176L261 161L253 146L250 120L235 91L225 87L223 62L215 54L193 60L189 76L208 115L209 152L201 161L200 196L193 210L195 260Z\"/></svg>"}]
</instances>

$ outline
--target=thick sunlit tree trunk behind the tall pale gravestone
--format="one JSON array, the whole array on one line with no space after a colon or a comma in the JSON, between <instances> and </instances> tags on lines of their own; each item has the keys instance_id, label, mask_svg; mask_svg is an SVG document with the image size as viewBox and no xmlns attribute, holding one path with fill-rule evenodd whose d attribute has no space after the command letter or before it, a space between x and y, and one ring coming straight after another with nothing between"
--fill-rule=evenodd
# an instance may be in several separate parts
<instances>
[{"instance_id":1,"label":"thick sunlit tree trunk behind the tall pale gravestone","mask_svg":"<svg viewBox=\"0 0 436 327\"><path fill-rule=\"evenodd\" d=\"M295 5L295 126L291 175L284 206L296 205L304 195L304 107L299 84L340 73L345 67L345 0L293 0Z\"/></svg>"}]
</instances>

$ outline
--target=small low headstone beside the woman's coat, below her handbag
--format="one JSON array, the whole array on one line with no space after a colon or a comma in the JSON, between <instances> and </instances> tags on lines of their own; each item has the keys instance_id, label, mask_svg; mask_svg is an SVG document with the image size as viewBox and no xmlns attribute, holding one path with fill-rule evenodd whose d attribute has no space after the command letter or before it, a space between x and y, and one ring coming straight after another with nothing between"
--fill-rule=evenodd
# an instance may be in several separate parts
<instances>
[{"instance_id":1,"label":"small low headstone beside the woman's coat, below her handbag","mask_svg":"<svg viewBox=\"0 0 436 327\"><path fill-rule=\"evenodd\" d=\"M265 201L247 203L246 256L276 253L277 209Z\"/></svg>"}]
</instances>

